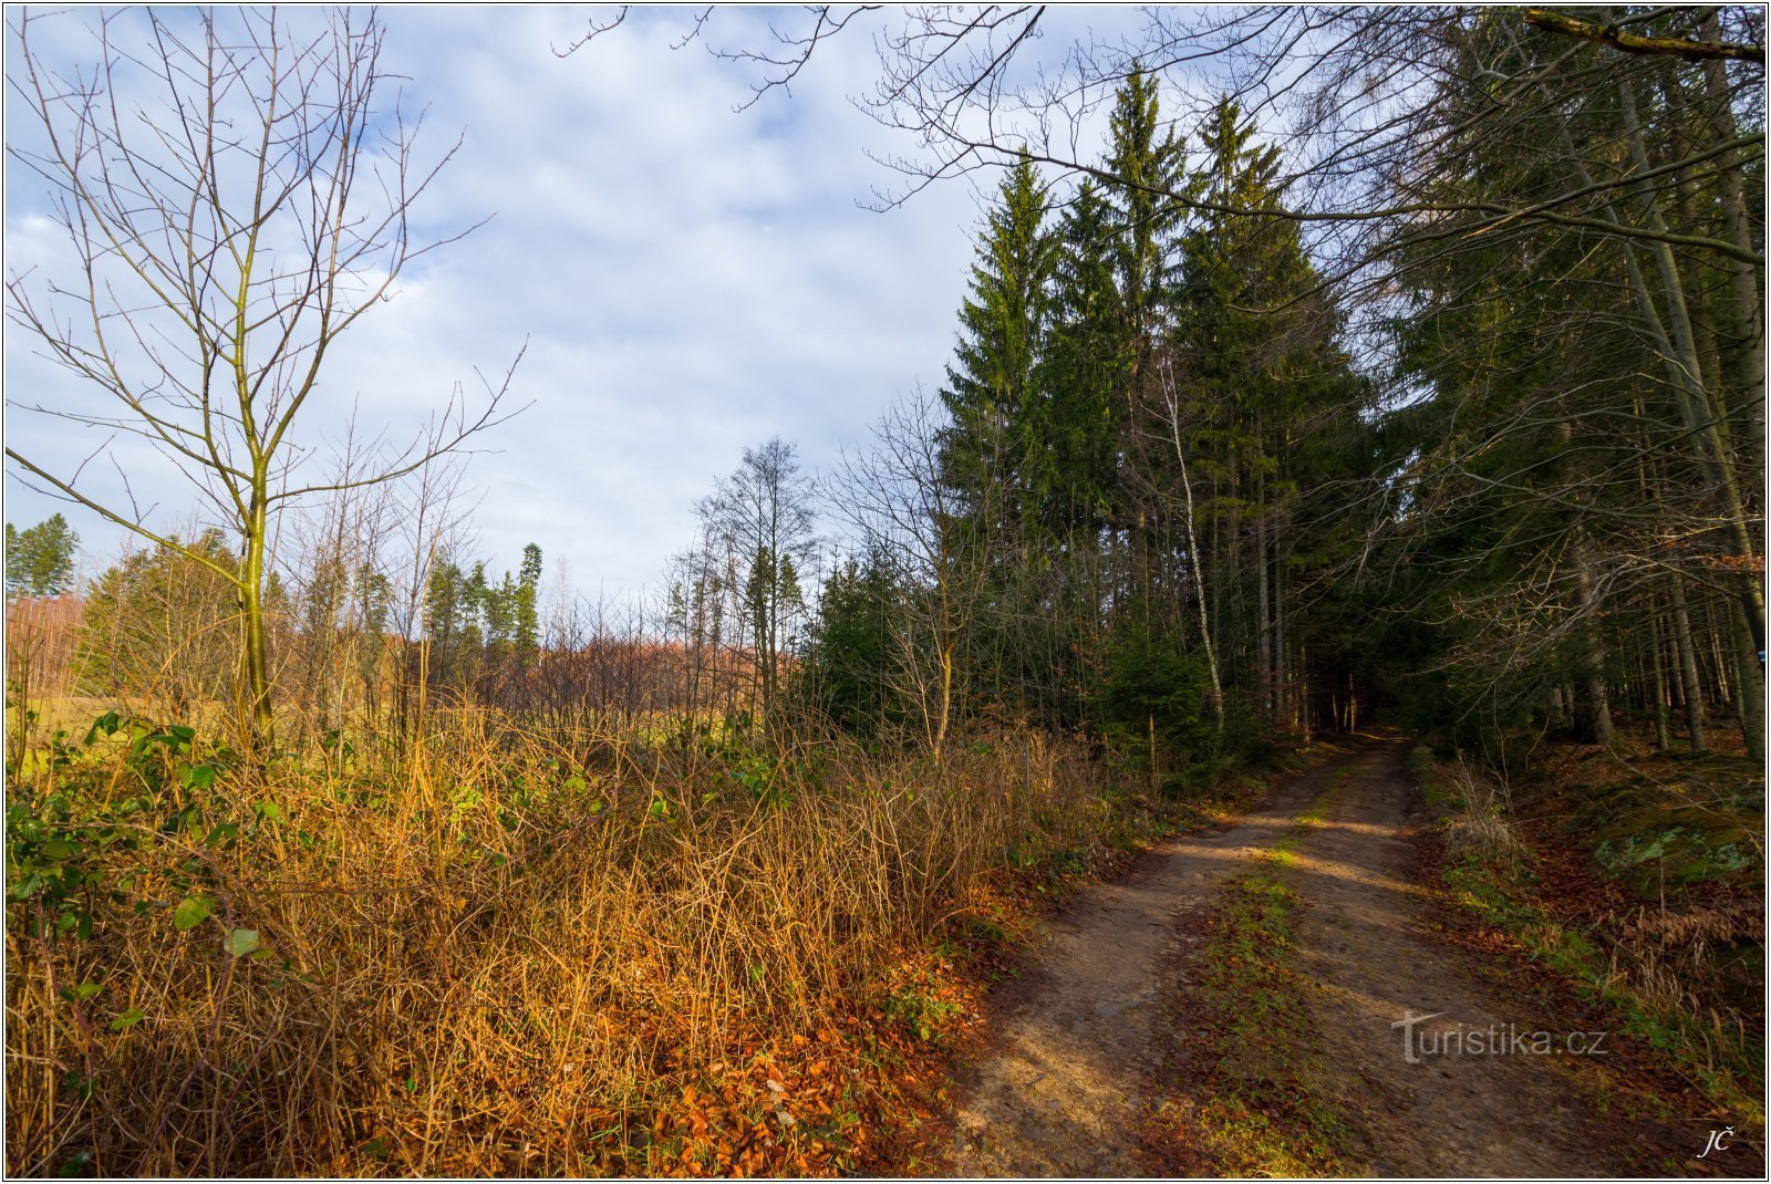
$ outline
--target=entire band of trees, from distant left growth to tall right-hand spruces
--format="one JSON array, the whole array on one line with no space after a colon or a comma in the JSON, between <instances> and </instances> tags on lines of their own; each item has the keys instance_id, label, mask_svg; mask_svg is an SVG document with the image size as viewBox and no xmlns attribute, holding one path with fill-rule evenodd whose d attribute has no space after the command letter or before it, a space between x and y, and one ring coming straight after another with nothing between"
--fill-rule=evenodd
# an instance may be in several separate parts
<instances>
[{"instance_id":1,"label":"entire band of trees, from distant left growth to tall right-hand spruces","mask_svg":"<svg viewBox=\"0 0 1771 1184\"><path fill-rule=\"evenodd\" d=\"M533 545L494 575L452 480L340 494L264 586L278 701L315 734L450 703L933 750L995 720L1153 777L1374 711L1760 752L1762 78L1500 11L1330 27L1312 103L1355 101L1350 62L1431 96L1339 173L1387 211L1351 237L1296 212L1321 159L1234 97L1171 119L1132 64L1096 161L1004 170L937 391L822 474L747 450L615 611L544 609ZM85 688L227 694L239 580L174 572L237 561L193 538L94 584ZM9 588L66 582L30 554Z\"/></svg>"}]
</instances>

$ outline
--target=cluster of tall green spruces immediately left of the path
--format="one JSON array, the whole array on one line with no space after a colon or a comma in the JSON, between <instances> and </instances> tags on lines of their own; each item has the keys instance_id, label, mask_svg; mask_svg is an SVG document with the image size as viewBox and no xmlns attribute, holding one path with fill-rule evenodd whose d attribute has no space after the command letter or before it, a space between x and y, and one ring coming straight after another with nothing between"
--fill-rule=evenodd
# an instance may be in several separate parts
<instances>
[{"instance_id":1,"label":"cluster of tall green spruces immediately left of the path","mask_svg":"<svg viewBox=\"0 0 1771 1184\"><path fill-rule=\"evenodd\" d=\"M845 464L862 549L824 589L820 701L933 743L979 713L1107 733L1153 766L1350 727L1374 690L1325 579L1374 395L1296 223L1254 214L1279 152L1229 101L1185 143L1135 71L1100 173L1006 173L939 402Z\"/></svg>"}]
</instances>

